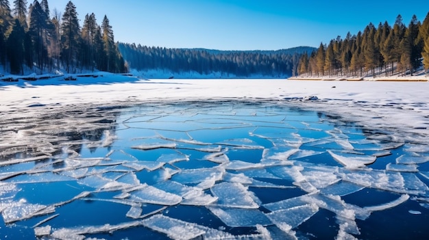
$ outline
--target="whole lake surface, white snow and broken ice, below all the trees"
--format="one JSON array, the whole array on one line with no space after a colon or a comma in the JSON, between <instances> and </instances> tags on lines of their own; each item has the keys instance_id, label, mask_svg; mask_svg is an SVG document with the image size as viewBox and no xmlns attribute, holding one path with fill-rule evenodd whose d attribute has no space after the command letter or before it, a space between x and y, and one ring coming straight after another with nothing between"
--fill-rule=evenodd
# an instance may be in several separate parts
<instances>
[{"instance_id":1,"label":"whole lake surface, white snow and broken ice, below all the trees","mask_svg":"<svg viewBox=\"0 0 429 240\"><path fill-rule=\"evenodd\" d=\"M97 76L0 82L0 239L429 234L428 82Z\"/></svg>"}]
</instances>

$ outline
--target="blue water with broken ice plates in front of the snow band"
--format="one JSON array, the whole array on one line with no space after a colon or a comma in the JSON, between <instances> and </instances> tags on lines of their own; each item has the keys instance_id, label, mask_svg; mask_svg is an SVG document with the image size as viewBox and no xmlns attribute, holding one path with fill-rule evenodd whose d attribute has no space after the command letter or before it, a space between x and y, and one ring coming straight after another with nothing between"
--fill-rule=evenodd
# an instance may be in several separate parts
<instances>
[{"instance_id":1,"label":"blue water with broken ice plates in front of the snow band","mask_svg":"<svg viewBox=\"0 0 429 240\"><path fill-rule=\"evenodd\" d=\"M71 107L0 135L1 239L429 235L419 134L290 101Z\"/></svg>"}]
</instances>

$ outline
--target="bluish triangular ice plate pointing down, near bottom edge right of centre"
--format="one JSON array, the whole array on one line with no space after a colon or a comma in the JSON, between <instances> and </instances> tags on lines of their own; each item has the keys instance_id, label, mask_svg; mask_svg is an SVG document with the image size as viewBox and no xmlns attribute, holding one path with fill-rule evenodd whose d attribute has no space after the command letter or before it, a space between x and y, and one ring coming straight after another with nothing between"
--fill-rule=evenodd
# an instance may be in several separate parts
<instances>
[{"instance_id":1,"label":"bluish triangular ice plate pointing down, near bottom edge right of centre","mask_svg":"<svg viewBox=\"0 0 429 240\"><path fill-rule=\"evenodd\" d=\"M276 226L282 226L287 224L291 228L296 228L307 219L315 215L319 211L319 208L315 204L306 204L304 206L295 206L291 209L284 209L267 213L267 217L271 219Z\"/></svg>"}]
</instances>

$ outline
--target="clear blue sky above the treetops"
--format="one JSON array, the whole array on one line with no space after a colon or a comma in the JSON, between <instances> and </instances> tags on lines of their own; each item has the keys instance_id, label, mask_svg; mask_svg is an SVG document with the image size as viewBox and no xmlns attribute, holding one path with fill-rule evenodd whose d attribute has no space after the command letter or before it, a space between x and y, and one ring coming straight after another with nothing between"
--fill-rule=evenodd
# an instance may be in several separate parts
<instances>
[{"instance_id":1,"label":"clear blue sky above the treetops","mask_svg":"<svg viewBox=\"0 0 429 240\"><path fill-rule=\"evenodd\" d=\"M32 0L28 0L32 2ZM48 0L64 12L69 0ZM115 40L169 48L277 50L319 46L370 22L393 25L401 14L424 21L428 0L73 0L80 24L87 13L106 14Z\"/></svg>"}]
</instances>

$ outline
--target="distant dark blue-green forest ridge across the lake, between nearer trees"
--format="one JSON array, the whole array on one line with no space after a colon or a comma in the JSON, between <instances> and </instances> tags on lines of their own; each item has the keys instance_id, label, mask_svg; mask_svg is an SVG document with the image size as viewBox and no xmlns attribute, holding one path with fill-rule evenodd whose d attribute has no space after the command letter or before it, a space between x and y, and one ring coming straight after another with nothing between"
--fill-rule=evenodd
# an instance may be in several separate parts
<instances>
[{"instance_id":1,"label":"distant dark blue-green forest ridge across the lake, between nearer trees","mask_svg":"<svg viewBox=\"0 0 429 240\"><path fill-rule=\"evenodd\" d=\"M119 43L128 67L136 70L161 69L171 72L195 71L201 75L221 72L235 77L292 76L297 74L299 57L312 47L279 51L219 51L210 49L167 49Z\"/></svg>"}]
</instances>

